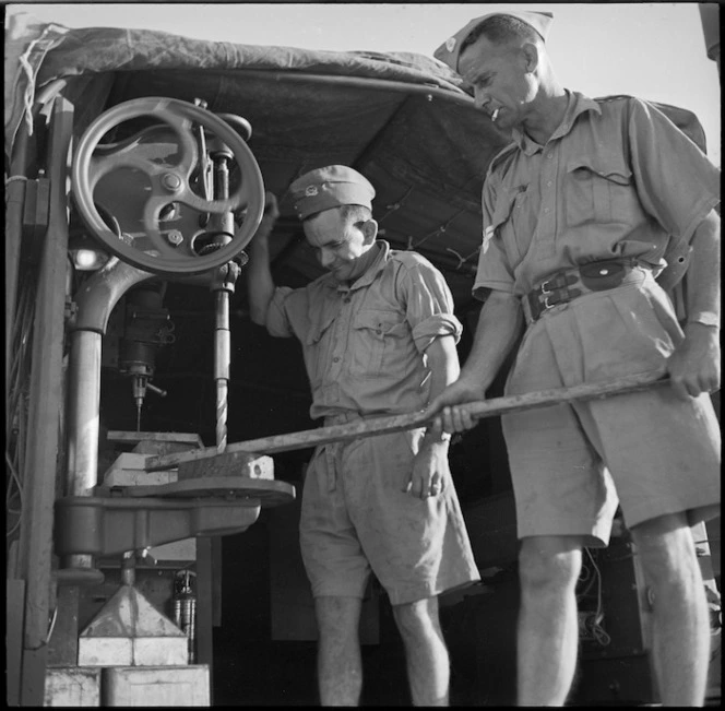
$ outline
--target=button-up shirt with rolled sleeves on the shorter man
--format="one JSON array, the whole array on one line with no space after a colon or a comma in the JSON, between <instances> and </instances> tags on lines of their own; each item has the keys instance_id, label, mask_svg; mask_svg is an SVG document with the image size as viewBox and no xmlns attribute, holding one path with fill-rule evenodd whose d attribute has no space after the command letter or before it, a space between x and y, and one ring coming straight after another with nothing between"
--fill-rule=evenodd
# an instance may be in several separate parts
<instances>
[{"instance_id":1,"label":"button-up shirt with rolled sleeves on the shorter man","mask_svg":"<svg viewBox=\"0 0 725 711\"><path fill-rule=\"evenodd\" d=\"M304 288L278 287L270 304L268 331L302 344L312 418L425 407L423 354L438 336L461 337L442 274L416 252L376 245L378 258L352 287L325 274Z\"/></svg>"}]
</instances>

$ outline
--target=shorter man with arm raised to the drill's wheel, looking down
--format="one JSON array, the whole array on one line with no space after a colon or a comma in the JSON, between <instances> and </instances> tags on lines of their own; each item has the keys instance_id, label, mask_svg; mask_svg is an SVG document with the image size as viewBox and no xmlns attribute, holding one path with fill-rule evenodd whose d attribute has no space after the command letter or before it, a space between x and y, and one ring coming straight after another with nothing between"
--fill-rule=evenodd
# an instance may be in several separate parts
<instances>
[{"instance_id":1,"label":"shorter man with arm raised to the drill's wheel, looking down","mask_svg":"<svg viewBox=\"0 0 725 711\"><path fill-rule=\"evenodd\" d=\"M251 242L251 318L297 336L325 425L423 410L459 374L461 324L442 275L421 256L377 239L375 190L356 170L307 173L290 193L326 273L276 288L270 214ZM437 595L478 579L448 466L448 439L425 429L318 447L300 518L302 560L319 630L324 706L356 704L361 688L360 605L370 570L385 589L406 650L415 704L448 703L449 660Z\"/></svg>"}]
</instances>

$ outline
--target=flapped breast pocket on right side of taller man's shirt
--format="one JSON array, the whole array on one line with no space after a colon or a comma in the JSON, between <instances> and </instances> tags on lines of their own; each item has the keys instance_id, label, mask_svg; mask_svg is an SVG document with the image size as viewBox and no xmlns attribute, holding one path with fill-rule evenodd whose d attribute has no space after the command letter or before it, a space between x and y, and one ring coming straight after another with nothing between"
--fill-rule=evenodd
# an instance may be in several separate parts
<instances>
[{"instance_id":1,"label":"flapped breast pocket on right side of taller man's shirt","mask_svg":"<svg viewBox=\"0 0 725 711\"><path fill-rule=\"evenodd\" d=\"M638 206L632 171L614 156L578 156L566 176L567 225L631 224Z\"/></svg>"}]
</instances>

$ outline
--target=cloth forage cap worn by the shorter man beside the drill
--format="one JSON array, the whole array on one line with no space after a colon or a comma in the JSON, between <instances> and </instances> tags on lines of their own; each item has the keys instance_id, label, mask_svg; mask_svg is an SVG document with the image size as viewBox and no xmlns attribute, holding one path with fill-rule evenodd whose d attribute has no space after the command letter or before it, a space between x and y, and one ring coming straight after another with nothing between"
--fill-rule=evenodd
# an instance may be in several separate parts
<instances>
[{"instance_id":1,"label":"cloth forage cap worn by the shorter man beside the drill","mask_svg":"<svg viewBox=\"0 0 725 711\"><path fill-rule=\"evenodd\" d=\"M310 170L297 178L289 190L300 220L338 205L372 209L372 199L376 197L375 188L368 179L344 165Z\"/></svg>"}]
</instances>

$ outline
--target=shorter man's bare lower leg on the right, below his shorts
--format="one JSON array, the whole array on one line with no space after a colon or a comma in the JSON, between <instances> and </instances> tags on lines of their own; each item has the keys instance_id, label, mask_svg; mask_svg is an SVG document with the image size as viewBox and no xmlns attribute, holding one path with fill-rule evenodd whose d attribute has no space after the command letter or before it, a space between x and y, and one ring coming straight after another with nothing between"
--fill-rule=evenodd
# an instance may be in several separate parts
<instances>
[{"instance_id":1,"label":"shorter man's bare lower leg on the right, below his shorts","mask_svg":"<svg viewBox=\"0 0 725 711\"><path fill-rule=\"evenodd\" d=\"M448 706L451 671L438 619L438 599L394 605L393 615L405 645L414 706Z\"/></svg>"}]
</instances>

